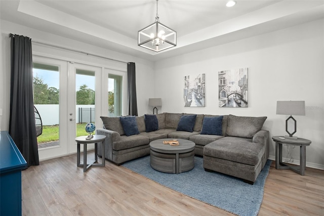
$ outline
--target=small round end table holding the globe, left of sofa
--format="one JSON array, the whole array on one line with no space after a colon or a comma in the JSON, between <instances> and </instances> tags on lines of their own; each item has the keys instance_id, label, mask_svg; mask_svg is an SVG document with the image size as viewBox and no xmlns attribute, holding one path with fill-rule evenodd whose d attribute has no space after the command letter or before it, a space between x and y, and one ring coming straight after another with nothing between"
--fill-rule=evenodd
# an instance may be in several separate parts
<instances>
[{"instance_id":1,"label":"small round end table holding the globe, left of sofa","mask_svg":"<svg viewBox=\"0 0 324 216\"><path fill-rule=\"evenodd\" d=\"M105 166L105 144L104 140L106 138L105 135L93 135L93 138L86 139L88 136L78 136L75 138L77 143L77 151L76 151L76 166L83 167L83 171L86 172L92 166ZM101 142L101 154L102 154L102 162L98 163L98 153L97 153L97 143ZM95 143L95 160L91 163L87 163L87 144ZM83 164L80 163L80 144L83 144Z\"/></svg>"}]
</instances>

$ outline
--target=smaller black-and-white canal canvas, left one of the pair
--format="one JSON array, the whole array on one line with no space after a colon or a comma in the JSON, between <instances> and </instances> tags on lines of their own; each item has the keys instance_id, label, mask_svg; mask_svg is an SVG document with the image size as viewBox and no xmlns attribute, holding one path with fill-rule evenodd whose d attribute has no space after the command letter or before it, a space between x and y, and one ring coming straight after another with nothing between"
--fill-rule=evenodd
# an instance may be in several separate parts
<instances>
[{"instance_id":1,"label":"smaller black-and-white canal canvas, left one of the pair","mask_svg":"<svg viewBox=\"0 0 324 216\"><path fill-rule=\"evenodd\" d=\"M205 106L205 74L184 77L184 106Z\"/></svg>"}]
</instances>

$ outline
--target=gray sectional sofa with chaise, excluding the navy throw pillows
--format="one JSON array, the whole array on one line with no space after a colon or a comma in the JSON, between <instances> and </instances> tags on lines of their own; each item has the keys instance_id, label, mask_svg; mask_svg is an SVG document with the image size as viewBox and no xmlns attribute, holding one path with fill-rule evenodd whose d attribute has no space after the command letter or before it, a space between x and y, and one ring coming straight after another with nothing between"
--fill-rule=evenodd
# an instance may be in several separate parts
<instances>
[{"instance_id":1,"label":"gray sectional sofa with chaise, excluding the navy throw pillows","mask_svg":"<svg viewBox=\"0 0 324 216\"><path fill-rule=\"evenodd\" d=\"M97 129L97 134L106 135L105 157L117 165L149 155L150 141L182 138L195 143L195 155L204 157L206 171L232 175L253 184L269 156L269 131L262 130L266 117L225 115L221 121L221 133L211 135L201 134L202 129L206 132L207 120L219 116L199 114L195 117L192 132L179 130L185 116L192 115L195 114L157 114L158 130L150 132L146 132L146 115L135 117L134 127L137 126L138 134L134 135L125 134L119 117L101 117L103 129ZM101 145L98 145L99 156L100 153Z\"/></svg>"}]
</instances>

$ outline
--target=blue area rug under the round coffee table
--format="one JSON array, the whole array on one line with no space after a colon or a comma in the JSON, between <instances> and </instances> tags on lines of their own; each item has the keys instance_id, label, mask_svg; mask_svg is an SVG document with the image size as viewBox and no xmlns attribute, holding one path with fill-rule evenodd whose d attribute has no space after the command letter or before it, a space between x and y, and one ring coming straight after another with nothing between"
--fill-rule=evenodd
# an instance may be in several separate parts
<instances>
[{"instance_id":1,"label":"blue area rug under the round coffee table","mask_svg":"<svg viewBox=\"0 0 324 216\"><path fill-rule=\"evenodd\" d=\"M257 215L263 199L265 179L271 160L259 174L254 185L242 179L204 170L203 158L195 157L195 167L179 174L156 171L150 166L150 156L123 164L156 183L237 215Z\"/></svg>"}]
</instances>

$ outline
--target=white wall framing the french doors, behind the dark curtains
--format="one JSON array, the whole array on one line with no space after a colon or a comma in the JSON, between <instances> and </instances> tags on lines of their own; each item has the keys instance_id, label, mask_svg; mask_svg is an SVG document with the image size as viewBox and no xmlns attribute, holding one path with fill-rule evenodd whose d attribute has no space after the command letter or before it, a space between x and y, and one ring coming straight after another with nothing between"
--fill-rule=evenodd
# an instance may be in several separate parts
<instances>
[{"instance_id":1,"label":"white wall framing the french doors, behind the dark curtains","mask_svg":"<svg viewBox=\"0 0 324 216\"><path fill-rule=\"evenodd\" d=\"M147 101L149 97L153 97L154 92L148 91L154 88L153 80L154 71L153 63L141 58L130 55L121 54L115 51L103 49L89 44L81 43L71 39L63 38L55 34L39 31L28 28L5 20L1 21L0 43L2 46L0 56L0 109L3 110L3 116L0 120L1 130L9 129L9 113L10 113L10 38L9 33L25 35L32 39L32 41L39 41L43 43L62 46L70 49L81 50L84 52L105 56L111 59L117 59L124 62L136 63L136 86L137 86L137 103L138 114L144 115L147 113ZM70 61L91 64L95 66L103 66L120 71L127 71L127 64L117 61L111 61L103 58L88 56L76 52L66 51L58 48L52 48L39 44L32 44L33 54L45 55L47 57L68 59ZM126 88L127 89L127 88ZM126 104L125 104L126 105ZM127 115L128 113L124 113ZM103 116L106 113L102 114Z\"/></svg>"}]
</instances>

